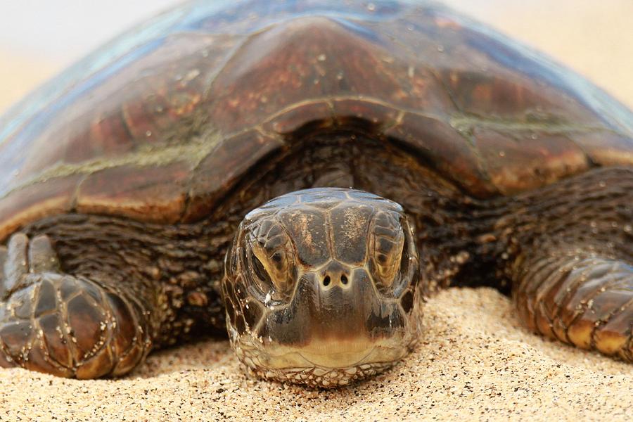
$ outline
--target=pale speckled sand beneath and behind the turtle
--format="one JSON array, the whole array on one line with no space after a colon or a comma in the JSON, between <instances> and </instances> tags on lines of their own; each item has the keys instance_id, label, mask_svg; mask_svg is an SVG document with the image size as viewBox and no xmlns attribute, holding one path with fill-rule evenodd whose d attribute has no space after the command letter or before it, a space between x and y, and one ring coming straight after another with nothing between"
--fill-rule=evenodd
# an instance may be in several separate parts
<instances>
[{"instance_id":1,"label":"pale speckled sand beneath and behind the turtle","mask_svg":"<svg viewBox=\"0 0 633 422\"><path fill-rule=\"evenodd\" d=\"M610 14L594 13L592 0L561 0L574 16L568 22L591 23L592 30L558 25L569 15L557 2L556 7L518 13L520 3L506 1L504 8L495 9L491 1L471 1L468 7L562 58L633 106L633 59L627 53L633 35L625 18L632 11L629 0L607 1L615 11ZM37 63L37 58L28 62L1 52L0 57L5 58L0 109L59 68ZM119 380L75 381L0 370L0 421L633 418L633 365L528 333L508 298L495 290L442 292L426 305L425 324L416 351L394 369L334 391L248 378L221 340L151 354L146 364Z\"/></svg>"}]
</instances>

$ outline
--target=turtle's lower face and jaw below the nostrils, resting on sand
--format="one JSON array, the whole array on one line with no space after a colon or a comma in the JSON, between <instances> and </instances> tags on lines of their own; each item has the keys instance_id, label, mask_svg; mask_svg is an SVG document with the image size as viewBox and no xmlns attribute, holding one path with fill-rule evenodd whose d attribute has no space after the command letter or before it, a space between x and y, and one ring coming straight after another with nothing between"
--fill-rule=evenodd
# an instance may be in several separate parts
<instances>
[{"instance_id":1,"label":"turtle's lower face and jaw below the nostrils, resting on sand","mask_svg":"<svg viewBox=\"0 0 633 422\"><path fill-rule=\"evenodd\" d=\"M325 294L319 277L307 274L293 300L269 309L250 333L229 326L238 358L257 376L325 388L402 359L418 337L418 314L383 298L364 271L352 272L345 288Z\"/></svg>"}]
</instances>

